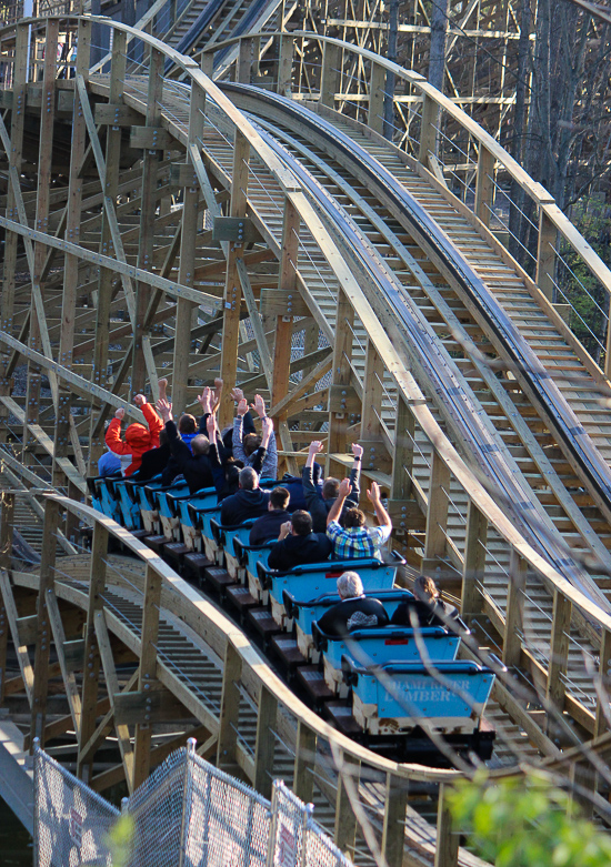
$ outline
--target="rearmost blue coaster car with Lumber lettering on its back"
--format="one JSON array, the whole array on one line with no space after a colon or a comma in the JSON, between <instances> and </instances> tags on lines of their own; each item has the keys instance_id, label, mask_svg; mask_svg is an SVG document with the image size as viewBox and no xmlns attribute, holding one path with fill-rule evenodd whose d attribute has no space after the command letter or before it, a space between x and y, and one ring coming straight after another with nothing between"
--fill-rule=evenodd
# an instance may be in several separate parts
<instances>
[{"instance_id":1,"label":"rearmost blue coaster car with Lumber lettering on its back","mask_svg":"<svg viewBox=\"0 0 611 867\"><path fill-rule=\"evenodd\" d=\"M473 662L365 667L345 655L341 665L352 690L352 715L372 735L409 732L423 722L443 734L471 734L494 683L493 672Z\"/></svg>"}]
</instances>

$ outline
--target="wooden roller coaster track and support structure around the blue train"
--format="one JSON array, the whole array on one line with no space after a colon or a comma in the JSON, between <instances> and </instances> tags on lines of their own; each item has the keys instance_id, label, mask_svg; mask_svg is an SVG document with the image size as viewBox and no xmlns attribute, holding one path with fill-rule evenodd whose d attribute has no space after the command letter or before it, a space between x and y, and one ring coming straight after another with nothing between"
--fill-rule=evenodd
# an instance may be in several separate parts
<instances>
[{"instance_id":1,"label":"wooden roller coaster track and support structure around the blue train","mask_svg":"<svg viewBox=\"0 0 611 867\"><path fill-rule=\"evenodd\" d=\"M93 24L113 32L96 73ZM62 28L78 50L58 78ZM393 545L511 671L493 695L507 743L494 773L520 773L530 749L570 769L609 820L609 365L557 303L562 269L572 292L585 273L608 293L604 264L494 139L365 49L267 32L216 44L200 65L106 19L24 20L0 36L0 698L26 696L27 743L71 745L103 790L134 787L194 734L263 793L293 773L300 797L332 804L342 848L354 853L367 815L367 845L389 865L477 863L443 796L460 772L397 765L327 726L216 606L82 502L110 412L140 420L130 397L154 399L160 375L174 406L192 409L220 374L269 400L290 471L322 438L328 471L342 473L359 438ZM228 51L233 81L216 83ZM367 82L357 109L338 90L344 62ZM419 99L403 150L381 135L389 72ZM460 160L439 141L440 115L469 140ZM534 279L503 245L510 181L535 204ZM226 397L221 425L232 412ZM30 571L11 556L16 503L44 518ZM91 553L79 553L82 524ZM112 559L109 537L131 559ZM51 715L53 684L69 713ZM437 838L410 786L439 788Z\"/></svg>"}]
</instances>

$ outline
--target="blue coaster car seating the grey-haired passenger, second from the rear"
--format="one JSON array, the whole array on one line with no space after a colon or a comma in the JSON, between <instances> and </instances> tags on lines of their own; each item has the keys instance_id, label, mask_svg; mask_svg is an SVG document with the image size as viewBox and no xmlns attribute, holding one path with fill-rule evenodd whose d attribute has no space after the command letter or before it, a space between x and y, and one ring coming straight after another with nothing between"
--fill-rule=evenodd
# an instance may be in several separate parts
<instances>
[{"instance_id":1,"label":"blue coaster car seating the grey-haired passenger, second from the rear","mask_svg":"<svg viewBox=\"0 0 611 867\"><path fill-rule=\"evenodd\" d=\"M453 635L441 626L427 626L418 634L408 626L380 626L353 629L350 636L340 638L321 632L314 622L312 638L317 651L323 654L324 683L340 696L348 693L342 672L344 656L365 667L390 662L422 665L420 646L423 645L424 659L434 659L437 664L455 659L460 644L460 635Z\"/></svg>"}]
</instances>

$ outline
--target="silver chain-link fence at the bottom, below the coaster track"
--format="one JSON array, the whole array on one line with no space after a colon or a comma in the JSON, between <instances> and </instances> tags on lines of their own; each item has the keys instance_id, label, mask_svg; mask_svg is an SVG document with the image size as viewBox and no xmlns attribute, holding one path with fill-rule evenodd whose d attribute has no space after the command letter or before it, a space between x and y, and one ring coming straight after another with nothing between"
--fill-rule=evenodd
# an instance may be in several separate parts
<instances>
[{"instance_id":1,"label":"silver chain-link fence at the bottom, below the coaster track","mask_svg":"<svg viewBox=\"0 0 611 867\"><path fill-rule=\"evenodd\" d=\"M282 782L271 804L196 754L172 753L130 798L127 867L349 867ZM34 867L111 867L119 810L37 747Z\"/></svg>"}]
</instances>

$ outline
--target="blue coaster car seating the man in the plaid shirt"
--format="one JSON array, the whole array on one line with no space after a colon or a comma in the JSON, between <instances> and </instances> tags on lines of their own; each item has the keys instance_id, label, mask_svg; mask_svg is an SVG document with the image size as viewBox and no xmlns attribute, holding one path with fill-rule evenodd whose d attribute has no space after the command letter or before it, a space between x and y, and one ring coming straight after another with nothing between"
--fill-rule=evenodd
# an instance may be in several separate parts
<instances>
[{"instance_id":1,"label":"blue coaster car seating the man in the plaid shirt","mask_svg":"<svg viewBox=\"0 0 611 867\"><path fill-rule=\"evenodd\" d=\"M339 576L344 572L358 572L365 592L390 589L394 584L397 568L405 561L392 552L391 563L375 557L362 559L330 559L324 563L309 563L294 566L288 572L274 572L262 563L257 564L259 579L263 589L269 589L271 613L279 626L286 625L287 612L282 602L282 592L288 589L294 598L314 598L323 593L337 589Z\"/></svg>"}]
</instances>

